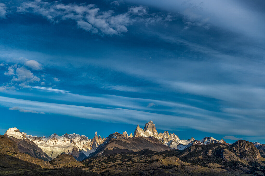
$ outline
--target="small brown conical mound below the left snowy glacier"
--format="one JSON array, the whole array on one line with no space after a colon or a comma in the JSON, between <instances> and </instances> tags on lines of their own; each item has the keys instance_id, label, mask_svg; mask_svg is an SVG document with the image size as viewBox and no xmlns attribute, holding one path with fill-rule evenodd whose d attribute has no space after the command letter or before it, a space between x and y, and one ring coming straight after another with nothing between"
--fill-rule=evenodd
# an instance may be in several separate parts
<instances>
[{"instance_id":1,"label":"small brown conical mound below the left snowy glacier","mask_svg":"<svg viewBox=\"0 0 265 176\"><path fill-rule=\"evenodd\" d=\"M84 166L82 163L78 162L72 155L61 154L55 159L51 160L50 163L54 168L73 168Z\"/></svg>"}]
</instances>

